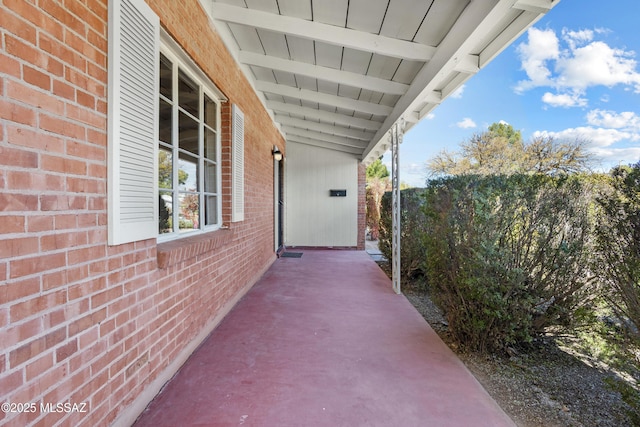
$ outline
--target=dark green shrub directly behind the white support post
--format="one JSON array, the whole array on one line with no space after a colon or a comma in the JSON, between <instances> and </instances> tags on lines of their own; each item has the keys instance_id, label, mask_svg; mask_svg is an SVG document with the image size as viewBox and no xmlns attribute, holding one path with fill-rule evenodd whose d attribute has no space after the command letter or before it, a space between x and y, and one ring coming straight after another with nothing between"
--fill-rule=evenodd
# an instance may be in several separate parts
<instances>
[{"instance_id":1,"label":"dark green shrub directly behind the white support post","mask_svg":"<svg viewBox=\"0 0 640 427\"><path fill-rule=\"evenodd\" d=\"M408 188L400 192L400 275L404 278L424 272L425 216L422 210L423 188ZM378 247L392 261L393 236L391 218L391 192L382 196L380 209L380 235Z\"/></svg>"}]
</instances>

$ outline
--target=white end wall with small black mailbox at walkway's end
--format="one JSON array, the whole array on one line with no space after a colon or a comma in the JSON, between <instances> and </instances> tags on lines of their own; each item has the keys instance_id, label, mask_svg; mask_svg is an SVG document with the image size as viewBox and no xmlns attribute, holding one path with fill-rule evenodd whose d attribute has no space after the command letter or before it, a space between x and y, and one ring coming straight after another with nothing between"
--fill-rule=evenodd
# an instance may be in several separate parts
<instances>
[{"instance_id":1,"label":"white end wall with small black mailbox at walkway's end","mask_svg":"<svg viewBox=\"0 0 640 427\"><path fill-rule=\"evenodd\" d=\"M329 190L347 190L329 197ZM357 246L358 160L351 154L287 143L285 245Z\"/></svg>"}]
</instances>

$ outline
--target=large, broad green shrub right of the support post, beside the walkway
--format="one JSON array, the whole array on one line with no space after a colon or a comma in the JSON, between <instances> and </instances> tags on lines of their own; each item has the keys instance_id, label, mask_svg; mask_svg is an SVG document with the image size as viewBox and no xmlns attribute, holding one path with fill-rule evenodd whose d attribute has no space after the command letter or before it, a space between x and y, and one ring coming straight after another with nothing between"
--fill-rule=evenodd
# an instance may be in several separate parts
<instances>
[{"instance_id":1,"label":"large, broad green shrub right of the support post, beside the walkway","mask_svg":"<svg viewBox=\"0 0 640 427\"><path fill-rule=\"evenodd\" d=\"M424 204L426 273L460 344L502 351L589 303L590 190L576 177L459 176Z\"/></svg>"}]
</instances>

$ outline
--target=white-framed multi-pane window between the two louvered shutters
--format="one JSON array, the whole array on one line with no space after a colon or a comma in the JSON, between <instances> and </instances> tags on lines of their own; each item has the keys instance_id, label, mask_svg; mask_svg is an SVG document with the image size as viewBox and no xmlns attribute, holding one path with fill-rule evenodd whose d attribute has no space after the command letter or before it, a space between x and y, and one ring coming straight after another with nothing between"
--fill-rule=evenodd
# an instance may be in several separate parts
<instances>
[{"instance_id":1,"label":"white-framed multi-pane window between the two louvered shutters","mask_svg":"<svg viewBox=\"0 0 640 427\"><path fill-rule=\"evenodd\" d=\"M159 65L158 232L170 239L220 226L220 101L171 49Z\"/></svg>"}]
</instances>

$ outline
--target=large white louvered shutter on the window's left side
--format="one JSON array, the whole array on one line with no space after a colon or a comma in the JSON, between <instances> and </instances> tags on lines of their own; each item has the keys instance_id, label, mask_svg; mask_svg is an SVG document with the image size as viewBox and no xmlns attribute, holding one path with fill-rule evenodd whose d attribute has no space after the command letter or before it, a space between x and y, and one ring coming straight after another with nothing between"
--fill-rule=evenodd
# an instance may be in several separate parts
<instances>
[{"instance_id":1,"label":"large white louvered shutter on the window's left side","mask_svg":"<svg viewBox=\"0 0 640 427\"><path fill-rule=\"evenodd\" d=\"M110 245L158 235L159 31L144 0L109 1Z\"/></svg>"}]
</instances>

